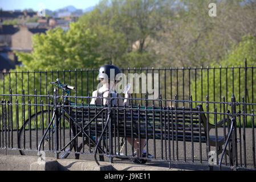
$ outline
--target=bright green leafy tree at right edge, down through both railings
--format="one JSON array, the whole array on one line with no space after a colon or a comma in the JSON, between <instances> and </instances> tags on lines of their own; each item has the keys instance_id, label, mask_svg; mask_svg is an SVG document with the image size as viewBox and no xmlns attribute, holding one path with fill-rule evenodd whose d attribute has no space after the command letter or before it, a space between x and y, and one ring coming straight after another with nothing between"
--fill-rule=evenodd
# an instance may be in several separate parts
<instances>
[{"instance_id":1,"label":"bright green leafy tree at right edge, down through both railings","mask_svg":"<svg viewBox=\"0 0 256 182\"><path fill-rule=\"evenodd\" d=\"M192 97L201 100L201 93L203 93L203 101L206 101L206 96L208 96L209 101L222 102L225 98L225 102L230 102L231 96L234 94L237 102L242 102L243 98L246 102L255 102L256 96L253 88L255 82L253 67L256 64L255 45L256 38L251 35L244 36L242 42L234 44L233 49L220 61L220 64L212 63L211 69L204 70L202 75L198 76L197 82L192 81ZM245 59L247 60L247 69L244 68ZM206 109L205 106L204 104ZM222 110L220 104L209 104L210 110L213 111L215 107L219 111ZM246 112L251 113L251 109L252 107L248 106Z\"/></svg>"}]
</instances>

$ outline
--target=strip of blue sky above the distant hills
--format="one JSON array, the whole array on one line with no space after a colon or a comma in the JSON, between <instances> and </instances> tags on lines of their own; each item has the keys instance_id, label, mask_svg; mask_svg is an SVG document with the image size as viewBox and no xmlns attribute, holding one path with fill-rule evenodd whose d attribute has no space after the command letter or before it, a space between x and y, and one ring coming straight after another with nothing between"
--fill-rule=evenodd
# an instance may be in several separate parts
<instances>
[{"instance_id":1,"label":"strip of blue sky above the distant hills","mask_svg":"<svg viewBox=\"0 0 256 182\"><path fill-rule=\"evenodd\" d=\"M38 11L42 3L46 9L56 10L65 6L75 6L77 9L86 9L95 6L100 0L0 0L0 8L3 10L33 9Z\"/></svg>"}]
</instances>

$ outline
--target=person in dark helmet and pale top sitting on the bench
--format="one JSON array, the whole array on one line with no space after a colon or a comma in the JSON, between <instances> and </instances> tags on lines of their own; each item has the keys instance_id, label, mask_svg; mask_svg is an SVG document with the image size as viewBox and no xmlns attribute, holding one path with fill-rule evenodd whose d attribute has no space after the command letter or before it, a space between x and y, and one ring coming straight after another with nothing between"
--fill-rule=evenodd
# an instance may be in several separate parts
<instances>
[{"instance_id":1,"label":"person in dark helmet and pale top sitting on the bench","mask_svg":"<svg viewBox=\"0 0 256 182\"><path fill-rule=\"evenodd\" d=\"M129 100L124 99L123 101L120 95L117 94L115 91L115 86L117 84L116 76L119 73L121 73L121 71L115 65L106 64L100 67L98 77L101 79L102 86L99 89L92 92L92 97L98 97L98 98L92 98L90 104L95 104L95 105L108 104L107 97L108 97L108 94L110 93L111 97L117 98L112 101L112 105L117 105L117 102L119 106L129 105ZM102 99L102 97L104 98ZM124 98L129 98L129 89L126 90ZM132 145L132 139L127 138L127 140ZM146 143L145 139L141 139L140 142L138 138L133 139L133 147L135 148L136 155L137 155L137 158L133 158L133 161L132 161L133 163L145 164L147 162L147 160L145 159L138 158L139 146L141 146L141 150L143 150L145 143ZM141 155L141 157L145 158L147 156L147 154L145 154L145 150L143 150L142 153L143 154Z\"/></svg>"}]
</instances>

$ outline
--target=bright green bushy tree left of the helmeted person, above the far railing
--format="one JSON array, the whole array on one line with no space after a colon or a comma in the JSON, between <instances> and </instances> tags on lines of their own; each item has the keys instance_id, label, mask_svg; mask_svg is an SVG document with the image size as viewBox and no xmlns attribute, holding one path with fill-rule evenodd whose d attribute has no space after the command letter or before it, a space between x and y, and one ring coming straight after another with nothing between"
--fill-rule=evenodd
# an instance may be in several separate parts
<instances>
[{"instance_id":1,"label":"bright green bushy tree left of the helmeted person, above the far railing","mask_svg":"<svg viewBox=\"0 0 256 182\"><path fill-rule=\"evenodd\" d=\"M35 34L32 40L31 53L16 52L23 65L17 71L86 69L101 63L97 36L83 24L71 23L67 32L56 27L46 34Z\"/></svg>"}]
</instances>

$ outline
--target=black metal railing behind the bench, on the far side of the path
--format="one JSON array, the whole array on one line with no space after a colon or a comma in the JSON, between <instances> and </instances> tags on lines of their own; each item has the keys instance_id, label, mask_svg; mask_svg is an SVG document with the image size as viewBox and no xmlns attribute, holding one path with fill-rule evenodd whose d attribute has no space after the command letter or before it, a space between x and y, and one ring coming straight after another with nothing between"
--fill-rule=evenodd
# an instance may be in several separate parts
<instances>
[{"instance_id":1,"label":"black metal railing behind the bench, on the far side of the path","mask_svg":"<svg viewBox=\"0 0 256 182\"><path fill-rule=\"evenodd\" d=\"M121 68L121 72L127 78L131 75L129 82L133 83L133 98L143 98L145 93L155 89L158 96L161 93L165 100L173 100L174 95L177 94L179 100L185 100L192 95L196 101L204 101L206 96L209 101L222 101L223 96L230 101L234 94L239 102L244 97L245 102L253 103L255 101L254 69L255 67L249 67L245 60L245 65L238 67ZM22 94L22 90L25 90L27 95L34 94L34 90L40 95L53 94L54 88L48 83L60 78L63 82L78 88L72 93L73 95L90 96L99 84L97 75L98 69L2 72L0 73L1 93L9 94L12 89L14 94ZM152 84L149 85L148 82ZM141 92L143 89L145 93ZM2 97L2 100L3 98L5 97ZM139 103L135 101L134 104ZM165 106L171 104L167 101L164 103Z\"/></svg>"}]
</instances>

